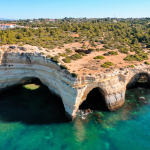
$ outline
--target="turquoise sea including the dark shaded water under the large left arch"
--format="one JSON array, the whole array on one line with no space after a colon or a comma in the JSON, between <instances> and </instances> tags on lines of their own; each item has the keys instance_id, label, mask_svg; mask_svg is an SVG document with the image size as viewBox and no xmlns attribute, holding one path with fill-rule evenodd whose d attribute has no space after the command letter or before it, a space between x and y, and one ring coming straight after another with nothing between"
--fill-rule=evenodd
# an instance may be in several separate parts
<instances>
[{"instance_id":1,"label":"turquoise sea including the dark shaded water under the large left arch","mask_svg":"<svg viewBox=\"0 0 150 150\"><path fill-rule=\"evenodd\" d=\"M84 117L79 112L67 122L61 99L43 85L6 91L0 94L0 150L150 150L150 89L127 90L120 110Z\"/></svg>"}]
</instances>

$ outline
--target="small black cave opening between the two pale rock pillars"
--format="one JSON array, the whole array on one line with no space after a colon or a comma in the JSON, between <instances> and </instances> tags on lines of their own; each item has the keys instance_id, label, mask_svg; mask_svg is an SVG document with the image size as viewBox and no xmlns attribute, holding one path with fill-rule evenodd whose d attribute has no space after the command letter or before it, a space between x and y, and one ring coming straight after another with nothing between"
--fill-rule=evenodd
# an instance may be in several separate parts
<instances>
[{"instance_id":1,"label":"small black cave opening between the two pale rock pillars","mask_svg":"<svg viewBox=\"0 0 150 150\"><path fill-rule=\"evenodd\" d=\"M87 95L86 100L80 105L79 109L108 111L103 91L98 87L92 89Z\"/></svg>"}]
</instances>

